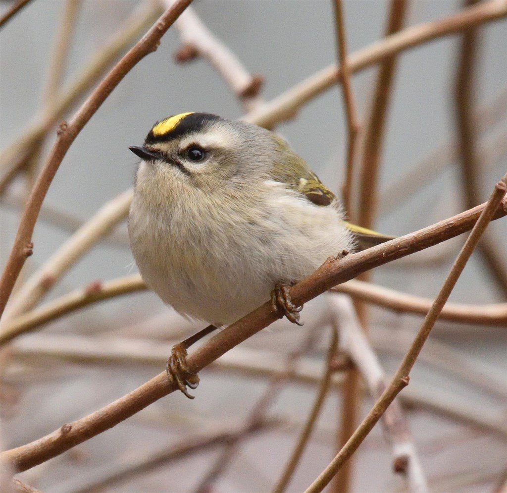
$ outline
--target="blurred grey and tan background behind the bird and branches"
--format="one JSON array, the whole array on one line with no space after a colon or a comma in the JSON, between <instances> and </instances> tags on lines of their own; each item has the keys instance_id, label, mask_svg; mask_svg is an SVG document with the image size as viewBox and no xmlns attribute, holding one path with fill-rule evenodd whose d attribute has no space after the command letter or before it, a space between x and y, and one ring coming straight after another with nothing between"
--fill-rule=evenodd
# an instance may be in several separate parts
<instances>
[{"instance_id":1,"label":"blurred grey and tan background behind the bird and branches","mask_svg":"<svg viewBox=\"0 0 507 493\"><path fill-rule=\"evenodd\" d=\"M34 0L0 31L3 153L29 133L33 122L40 121L53 97L86 73L93 57L110 46L117 31L125 33L133 22L140 24L137 34L118 50L121 56L160 15L160 5L149 2L72 2L76 5L73 28L65 42L69 51L63 81L55 93L48 94L45 88L55 39L62 19L70 15L69 3ZM2 14L12 5L2 2ZM331 2L207 1L194 2L192 8L249 73L264 78L259 95L265 101L338 60ZM390 8L391 4L383 1L343 2L348 53L384 37ZM454 1L408 2L403 25L438 21L463 8L463 3ZM146 22L142 24L143 18ZM128 146L140 145L155 121L187 111L227 118L246 114L241 100L208 60L175 60L181 46L180 31L173 26L157 51L132 69L78 135L47 194L33 235L34 255L27 261L21 281L45 265L104 203L131 187L137 158ZM453 34L403 51L397 58L377 183L374 226L379 231L406 234L468 208L462 166L451 152L456 147L452 146L458 121L455 81L461 52L462 36ZM505 20L477 29L474 53L477 63L472 111L483 115L481 123L474 120L480 203L487 200L507 163ZM377 72L375 65L352 78L363 129L372 107ZM81 97L69 104L57 122L70 119L83 100ZM262 111L262 103L256 108ZM51 131L40 150L41 162L54 143L56 125L49 126ZM324 184L339 193L347 151L341 85L312 98L295 118L277 125L276 131L307 160ZM361 145L359 137L358 147ZM450 150L448 154L446 149ZM439 150L440 154L433 154ZM357 162L360 151L358 154ZM8 164L3 165L3 176L9 169ZM3 190L2 267L33 175L22 173ZM357 197L354 189L352 197ZM356 210L350 211L352 217L357 217ZM505 220L498 220L488 228L502 262L506 225ZM458 237L377 268L371 280L396 291L432 298L463 241ZM484 257L475 252L450 300L474 305L504 303L504 268L497 263L498 275L494 275ZM40 304L95 281L135 272L126 225L121 222L113 234L94 244L58 279ZM220 473L206 483L209 491L271 490L312 406L323 371L330 325L324 296L305 306L302 320L303 328L281 321L274 324L230 351L222 365L202 371L194 401L179 393L166 397L114 429L17 477L48 492L202 490L210 468L230 444L222 435L244 430L273 372L285 368L287 355L300 350L314 331L312 343L298 364L303 376L287 378L276 392L270 391L272 401L259 429L240 433L232 460L226 466L217 466ZM387 375L396 369L421 321L419 315L369 307L371 344ZM173 342L201 327L174 314L155 294L140 292L91 304L6 344L2 352L2 447L35 440L133 390L163 370ZM431 491L499 491L502 484L505 487L505 329L504 322L439 322L414 367L409 387L401 394ZM336 373L336 384L289 491L304 490L336 453L345 373ZM360 390L359 410L355 418L351 417L358 422L374 402L364 385ZM216 443L180 455L164 455L169 449L212 436L219 436ZM162 459L157 462L154 457ZM135 469L144 463L151 466ZM410 490L403 475L393 472L392 450L380 425L360 446L351 466L350 491ZM114 479L115 473L120 477ZM100 485L104 478L109 482Z\"/></svg>"}]
</instances>

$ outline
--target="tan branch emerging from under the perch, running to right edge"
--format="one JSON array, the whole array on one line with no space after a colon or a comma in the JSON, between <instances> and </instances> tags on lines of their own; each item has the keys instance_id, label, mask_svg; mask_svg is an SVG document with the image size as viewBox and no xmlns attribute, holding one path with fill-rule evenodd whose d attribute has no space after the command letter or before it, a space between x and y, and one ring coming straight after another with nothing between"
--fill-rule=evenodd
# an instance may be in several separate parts
<instances>
[{"instance_id":1,"label":"tan branch emerging from under the perch, running to right edge","mask_svg":"<svg viewBox=\"0 0 507 493\"><path fill-rule=\"evenodd\" d=\"M332 289L347 293L369 303L389 308L402 313L425 315L431 307L431 300L409 295L400 291L365 283L360 280L349 280ZM440 314L441 320L463 324L483 324L504 327L507 324L507 303L487 305L468 305L464 303L446 303Z\"/></svg>"}]
</instances>

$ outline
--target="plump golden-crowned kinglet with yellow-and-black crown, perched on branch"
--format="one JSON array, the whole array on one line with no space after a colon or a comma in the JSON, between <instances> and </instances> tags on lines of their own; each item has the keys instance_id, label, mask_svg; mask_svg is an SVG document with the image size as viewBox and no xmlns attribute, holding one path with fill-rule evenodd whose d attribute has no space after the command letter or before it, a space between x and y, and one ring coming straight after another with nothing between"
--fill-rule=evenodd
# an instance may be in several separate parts
<instances>
[{"instance_id":1,"label":"plump golden-crowned kinglet with yellow-and-black crown, perched on branch","mask_svg":"<svg viewBox=\"0 0 507 493\"><path fill-rule=\"evenodd\" d=\"M356 249L335 196L264 128L183 113L129 149L141 158L128 222L132 253L146 284L179 313L220 327L272 294L274 309L298 322L287 286ZM388 239L355 232L373 243ZM185 342L173 348L168 373L189 396L185 385L195 388L198 379L185 375Z\"/></svg>"}]
</instances>

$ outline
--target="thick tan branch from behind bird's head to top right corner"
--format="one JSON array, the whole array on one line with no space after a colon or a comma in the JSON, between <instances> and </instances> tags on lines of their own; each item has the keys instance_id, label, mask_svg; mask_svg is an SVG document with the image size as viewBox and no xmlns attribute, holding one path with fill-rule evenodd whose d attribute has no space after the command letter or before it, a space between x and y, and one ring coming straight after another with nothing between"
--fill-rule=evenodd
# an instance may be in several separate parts
<instances>
[{"instance_id":1,"label":"thick tan branch from behind bird's head to top right corner","mask_svg":"<svg viewBox=\"0 0 507 493\"><path fill-rule=\"evenodd\" d=\"M350 73L359 72L414 46L505 16L507 16L507 3L490 0L438 21L408 27L363 50L352 53L348 57ZM243 119L261 127L272 128L277 123L294 118L303 104L341 80L341 70L336 64L330 65L266 103L261 109L248 113Z\"/></svg>"}]
</instances>

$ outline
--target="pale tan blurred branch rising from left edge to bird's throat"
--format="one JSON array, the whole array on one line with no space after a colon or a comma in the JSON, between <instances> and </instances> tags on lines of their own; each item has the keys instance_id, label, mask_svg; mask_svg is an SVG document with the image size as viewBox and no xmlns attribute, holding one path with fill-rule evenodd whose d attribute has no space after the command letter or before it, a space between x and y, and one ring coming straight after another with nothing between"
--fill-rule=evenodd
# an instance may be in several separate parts
<instances>
[{"instance_id":1,"label":"pale tan blurred branch rising from left edge to bird's throat","mask_svg":"<svg viewBox=\"0 0 507 493\"><path fill-rule=\"evenodd\" d=\"M131 201L132 190L127 190L104 204L37 272L30 276L10 303L3 322L35 306L98 239L104 237L127 216Z\"/></svg>"}]
</instances>

